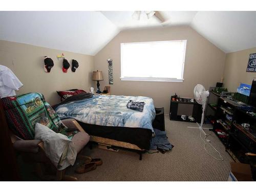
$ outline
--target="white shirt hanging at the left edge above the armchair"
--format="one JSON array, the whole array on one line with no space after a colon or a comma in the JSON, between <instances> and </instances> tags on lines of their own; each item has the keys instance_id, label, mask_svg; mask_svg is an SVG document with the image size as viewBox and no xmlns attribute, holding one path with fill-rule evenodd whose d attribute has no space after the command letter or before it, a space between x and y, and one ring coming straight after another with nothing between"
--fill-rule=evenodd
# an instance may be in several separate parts
<instances>
[{"instance_id":1,"label":"white shirt hanging at the left edge above the armchair","mask_svg":"<svg viewBox=\"0 0 256 192\"><path fill-rule=\"evenodd\" d=\"M6 66L0 65L0 97L15 96L15 91L22 87L22 82Z\"/></svg>"}]
</instances>

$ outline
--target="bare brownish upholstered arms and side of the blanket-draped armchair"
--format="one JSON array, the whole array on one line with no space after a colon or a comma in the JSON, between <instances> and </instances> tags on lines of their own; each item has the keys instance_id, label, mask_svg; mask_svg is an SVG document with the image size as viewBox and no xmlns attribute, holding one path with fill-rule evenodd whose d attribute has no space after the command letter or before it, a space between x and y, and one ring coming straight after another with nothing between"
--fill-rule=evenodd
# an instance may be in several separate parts
<instances>
[{"instance_id":1,"label":"bare brownish upholstered arms and side of the blanket-draped armchair","mask_svg":"<svg viewBox=\"0 0 256 192\"><path fill-rule=\"evenodd\" d=\"M75 119L65 119L62 120L62 123L71 130L79 131L71 139L74 142L74 146L78 154L82 150L82 148L89 142L90 136L82 129L82 127ZM14 150L18 151L25 161L35 163L35 172L40 179L57 181L77 180L76 177L65 175L65 169L57 170L56 167L53 166L50 159L45 154L45 147L42 141L23 140L14 135L11 131L10 137L13 143Z\"/></svg>"}]
</instances>

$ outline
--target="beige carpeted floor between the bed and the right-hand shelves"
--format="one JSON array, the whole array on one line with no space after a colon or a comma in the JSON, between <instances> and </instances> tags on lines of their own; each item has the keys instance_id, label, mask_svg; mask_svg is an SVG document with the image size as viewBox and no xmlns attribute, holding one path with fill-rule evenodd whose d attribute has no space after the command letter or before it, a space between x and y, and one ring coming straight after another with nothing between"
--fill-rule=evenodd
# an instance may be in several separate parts
<instances>
[{"instance_id":1,"label":"beige carpeted floor between the bed and the right-hand shelves","mask_svg":"<svg viewBox=\"0 0 256 192\"><path fill-rule=\"evenodd\" d=\"M165 154L143 154L142 161L134 152L112 152L97 145L92 150L86 147L82 155L101 158L103 164L84 174L76 174L74 166L67 170L67 174L80 181L227 181L232 160L220 140L213 132L206 132L211 134L207 139L220 151L223 161L208 156L200 131L187 126L196 126L196 123L170 121L166 115L165 131L174 145L173 150ZM218 154L209 149L218 158Z\"/></svg>"}]
</instances>

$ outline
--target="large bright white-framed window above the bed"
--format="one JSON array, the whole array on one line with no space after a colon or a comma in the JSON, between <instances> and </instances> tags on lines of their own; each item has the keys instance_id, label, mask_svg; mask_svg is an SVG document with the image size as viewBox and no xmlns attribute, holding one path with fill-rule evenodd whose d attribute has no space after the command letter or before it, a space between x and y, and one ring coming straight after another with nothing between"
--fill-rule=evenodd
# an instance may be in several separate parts
<instances>
[{"instance_id":1,"label":"large bright white-framed window above the bed","mask_svg":"<svg viewBox=\"0 0 256 192\"><path fill-rule=\"evenodd\" d=\"M121 44L121 80L183 81L187 40Z\"/></svg>"}]
</instances>

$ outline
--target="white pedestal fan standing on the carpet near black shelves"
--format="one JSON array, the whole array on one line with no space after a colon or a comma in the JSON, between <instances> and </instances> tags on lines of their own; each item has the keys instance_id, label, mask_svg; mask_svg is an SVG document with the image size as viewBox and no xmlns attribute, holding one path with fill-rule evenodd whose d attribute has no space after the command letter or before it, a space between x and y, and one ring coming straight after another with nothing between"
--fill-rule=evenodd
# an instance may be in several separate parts
<instances>
[{"instance_id":1,"label":"white pedestal fan standing on the carpet near black shelves","mask_svg":"<svg viewBox=\"0 0 256 192\"><path fill-rule=\"evenodd\" d=\"M204 135L206 136L206 133L204 132L203 129L209 130L211 128L204 128L203 127L203 123L204 123L204 111L205 111L205 105L207 102L207 97L209 96L209 92L205 91L205 88L202 86L202 84L197 84L196 87L194 88L194 97L196 99L196 101L199 104L202 104L202 118L201 118L201 124L199 125L198 123L198 127L194 127L194 126L188 126L188 128L194 128L194 129L200 129Z\"/></svg>"}]
</instances>

